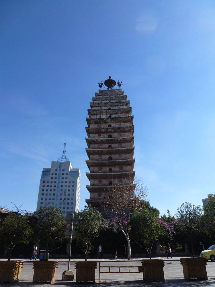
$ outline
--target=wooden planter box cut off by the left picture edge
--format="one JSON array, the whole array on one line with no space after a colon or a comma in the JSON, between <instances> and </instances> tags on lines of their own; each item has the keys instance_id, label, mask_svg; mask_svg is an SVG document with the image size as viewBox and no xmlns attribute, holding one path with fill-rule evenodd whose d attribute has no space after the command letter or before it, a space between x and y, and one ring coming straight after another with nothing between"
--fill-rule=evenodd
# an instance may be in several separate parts
<instances>
[{"instance_id":1,"label":"wooden planter box cut off by the left picture edge","mask_svg":"<svg viewBox=\"0 0 215 287\"><path fill-rule=\"evenodd\" d=\"M23 268L24 261L0 261L0 283L19 282L21 268Z\"/></svg>"}]
</instances>

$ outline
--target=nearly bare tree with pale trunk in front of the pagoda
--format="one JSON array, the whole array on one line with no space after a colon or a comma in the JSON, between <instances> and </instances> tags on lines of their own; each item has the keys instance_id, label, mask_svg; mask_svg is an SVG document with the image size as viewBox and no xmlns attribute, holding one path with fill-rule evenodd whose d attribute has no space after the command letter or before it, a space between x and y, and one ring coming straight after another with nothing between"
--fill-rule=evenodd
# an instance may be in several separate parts
<instances>
[{"instance_id":1,"label":"nearly bare tree with pale trunk in front of the pagoda","mask_svg":"<svg viewBox=\"0 0 215 287\"><path fill-rule=\"evenodd\" d=\"M130 183L130 184L129 184ZM118 185L109 188L105 194L105 200L102 206L114 218L118 228L126 237L128 244L128 260L131 259L130 244L130 225L128 224L134 210L141 210L144 207L144 199L146 197L146 186L143 186L140 180L135 179L127 183L127 185Z\"/></svg>"}]
</instances>

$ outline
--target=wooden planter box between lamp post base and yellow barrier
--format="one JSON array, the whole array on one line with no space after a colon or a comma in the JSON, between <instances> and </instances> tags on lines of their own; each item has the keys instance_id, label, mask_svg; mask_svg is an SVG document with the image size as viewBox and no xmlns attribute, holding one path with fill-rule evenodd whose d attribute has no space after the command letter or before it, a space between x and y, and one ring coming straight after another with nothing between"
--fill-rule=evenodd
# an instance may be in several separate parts
<instances>
[{"instance_id":1,"label":"wooden planter box between lamp post base and yellow barrier","mask_svg":"<svg viewBox=\"0 0 215 287\"><path fill-rule=\"evenodd\" d=\"M76 283L78 282L93 282L95 283L95 268L96 261L77 261L75 262Z\"/></svg>"}]
</instances>

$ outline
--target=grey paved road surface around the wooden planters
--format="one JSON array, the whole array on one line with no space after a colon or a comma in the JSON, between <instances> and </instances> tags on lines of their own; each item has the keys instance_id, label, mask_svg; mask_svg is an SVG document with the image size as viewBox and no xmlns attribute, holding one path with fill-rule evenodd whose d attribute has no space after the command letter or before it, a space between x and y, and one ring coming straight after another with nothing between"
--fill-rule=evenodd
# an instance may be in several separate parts
<instances>
[{"instance_id":1,"label":"grey paved road surface around the wooden planters","mask_svg":"<svg viewBox=\"0 0 215 287\"><path fill-rule=\"evenodd\" d=\"M158 257L157 257L158 258ZM96 284L99 284L101 287L118 287L118 286L174 286L174 287L179 287L179 286L193 286L193 287L199 287L199 286L208 286L208 287L215 287L215 262L208 261L206 265L206 270L208 274L208 280L203 280L203 281L198 281L198 280L189 280L186 281L183 277L183 269L182 265L180 264L180 258L179 257L174 257L173 259L164 259L164 277L165 277L165 282L145 282L142 280L142 273L101 273L101 283L99 283L99 262L100 266L107 266L107 265L114 265L114 266L122 266L122 269L120 268L120 271L127 271L128 268L126 266L141 266L141 260L142 258L138 259L133 259L130 261L127 260L109 260L109 259L89 259L90 260L96 260L97 261L97 269L95 272L95 279L96 279ZM146 258L143 258L146 259ZM12 260L20 260L20 259L12 259ZM32 279L33 279L33 274L34 274L34 269L33 267L33 262L34 260L29 260L29 259L21 259L24 260L24 267L21 269L21 275L20 275L20 280L19 283L14 283L14 284L1 284L1 286L14 286L14 287L32 287L32 286L41 286L41 284L33 284ZM84 261L77 259L78 261ZM70 269L74 273L74 279L76 276L76 269L74 268L75 261L77 260L71 260L70 263ZM54 286L59 286L59 287L69 287L69 286L77 286L77 284L74 281L70 282L64 282L62 281L62 273L64 270L68 269L68 260L66 259L57 259L58 261L58 268L56 269L56 277L55 277L55 283L52 284ZM117 271L118 269L112 269L112 271ZM138 271L138 268L131 268L130 270L132 271ZM107 268L101 268L101 271L108 271ZM86 284L78 284L79 286L86 286ZM50 284L42 284L44 287L50 286ZM95 284L87 284L88 287L91 286L96 286Z\"/></svg>"}]
</instances>

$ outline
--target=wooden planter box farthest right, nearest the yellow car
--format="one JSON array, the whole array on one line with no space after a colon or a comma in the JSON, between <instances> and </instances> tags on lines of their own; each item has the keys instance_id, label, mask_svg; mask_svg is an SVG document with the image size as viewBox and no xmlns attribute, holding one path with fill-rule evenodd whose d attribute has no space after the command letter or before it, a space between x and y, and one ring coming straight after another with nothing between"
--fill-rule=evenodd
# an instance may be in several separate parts
<instances>
[{"instance_id":1,"label":"wooden planter box farthest right, nearest the yellow car","mask_svg":"<svg viewBox=\"0 0 215 287\"><path fill-rule=\"evenodd\" d=\"M185 280L197 278L197 280L208 280L206 271L207 261L205 258L181 258L180 259Z\"/></svg>"}]
</instances>

